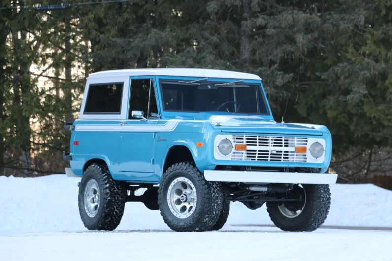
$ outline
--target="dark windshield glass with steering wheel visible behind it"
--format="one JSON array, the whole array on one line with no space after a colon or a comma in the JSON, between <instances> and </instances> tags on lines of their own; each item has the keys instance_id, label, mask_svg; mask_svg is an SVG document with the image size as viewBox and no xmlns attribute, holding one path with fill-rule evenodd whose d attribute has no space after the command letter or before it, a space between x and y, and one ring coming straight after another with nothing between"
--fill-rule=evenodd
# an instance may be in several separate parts
<instances>
[{"instance_id":1,"label":"dark windshield glass with steering wheel visible behind it","mask_svg":"<svg viewBox=\"0 0 392 261\"><path fill-rule=\"evenodd\" d=\"M260 84L161 80L163 110L268 114Z\"/></svg>"}]
</instances>

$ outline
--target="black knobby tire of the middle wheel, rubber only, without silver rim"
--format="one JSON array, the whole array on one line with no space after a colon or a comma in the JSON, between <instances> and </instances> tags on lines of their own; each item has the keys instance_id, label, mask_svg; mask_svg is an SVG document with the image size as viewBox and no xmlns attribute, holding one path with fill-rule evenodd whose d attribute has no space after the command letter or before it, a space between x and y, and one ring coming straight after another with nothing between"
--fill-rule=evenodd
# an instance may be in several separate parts
<instances>
[{"instance_id":1,"label":"black knobby tire of the middle wheel, rubber only, without silver rim","mask_svg":"<svg viewBox=\"0 0 392 261\"><path fill-rule=\"evenodd\" d=\"M197 192L195 211L184 219L171 213L167 201L169 186L178 177L189 179ZM205 180L204 175L192 163L176 163L170 166L162 176L158 189L158 204L164 222L172 230L178 232L206 231L212 228L222 212L223 190L220 183Z\"/></svg>"}]
</instances>

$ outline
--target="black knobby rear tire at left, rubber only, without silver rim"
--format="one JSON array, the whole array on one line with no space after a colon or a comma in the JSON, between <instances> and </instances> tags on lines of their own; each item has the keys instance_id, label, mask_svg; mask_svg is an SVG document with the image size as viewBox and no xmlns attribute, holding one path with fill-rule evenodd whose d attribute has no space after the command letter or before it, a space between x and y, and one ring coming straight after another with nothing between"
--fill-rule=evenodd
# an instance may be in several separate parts
<instances>
[{"instance_id":1,"label":"black knobby rear tire at left, rubber only, without silver rim","mask_svg":"<svg viewBox=\"0 0 392 261\"><path fill-rule=\"evenodd\" d=\"M94 217L84 208L84 191L89 180L95 179L100 191L100 205ZM79 185L79 213L88 230L114 230L123 217L127 190L125 182L115 181L105 164L91 164L84 172Z\"/></svg>"}]
</instances>

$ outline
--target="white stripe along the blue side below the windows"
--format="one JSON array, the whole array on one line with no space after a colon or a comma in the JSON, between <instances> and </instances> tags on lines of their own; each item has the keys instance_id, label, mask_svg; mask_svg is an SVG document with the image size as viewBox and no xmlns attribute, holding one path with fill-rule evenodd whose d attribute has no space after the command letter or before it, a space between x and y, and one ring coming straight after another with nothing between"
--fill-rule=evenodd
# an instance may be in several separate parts
<instances>
[{"instance_id":1,"label":"white stripe along the blue side below the windows","mask_svg":"<svg viewBox=\"0 0 392 261\"><path fill-rule=\"evenodd\" d=\"M142 121L140 121L142 122ZM168 120L165 124L147 124L147 123L138 123L138 124L124 124L122 126L115 124L89 124L89 125L76 125L76 131L113 131L113 132L154 132L154 131L164 131L169 132L173 131L180 120Z\"/></svg>"}]
</instances>

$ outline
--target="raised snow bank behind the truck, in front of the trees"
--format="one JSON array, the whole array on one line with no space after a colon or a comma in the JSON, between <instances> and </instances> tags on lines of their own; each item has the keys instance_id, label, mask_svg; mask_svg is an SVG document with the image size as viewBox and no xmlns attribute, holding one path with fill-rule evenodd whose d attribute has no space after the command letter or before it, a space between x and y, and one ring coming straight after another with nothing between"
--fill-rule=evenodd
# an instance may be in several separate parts
<instances>
[{"instance_id":1,"label":"raised snow bank behind the truck, in front of the trees","mask_svg":"<svg viewBox=\"0 0 392 261\"><path fill-rule=\"evenodd\" d=\"M86 230L79 217L77 182L65 175L0 177L0 235ZM371 184L333 185L324 225L392 227L392 191ZM272 225L265 206L249 210L231 203L228 225ZM118 230L164 229L159 211L127 203Z\"/></svg>"}]
</instances>

